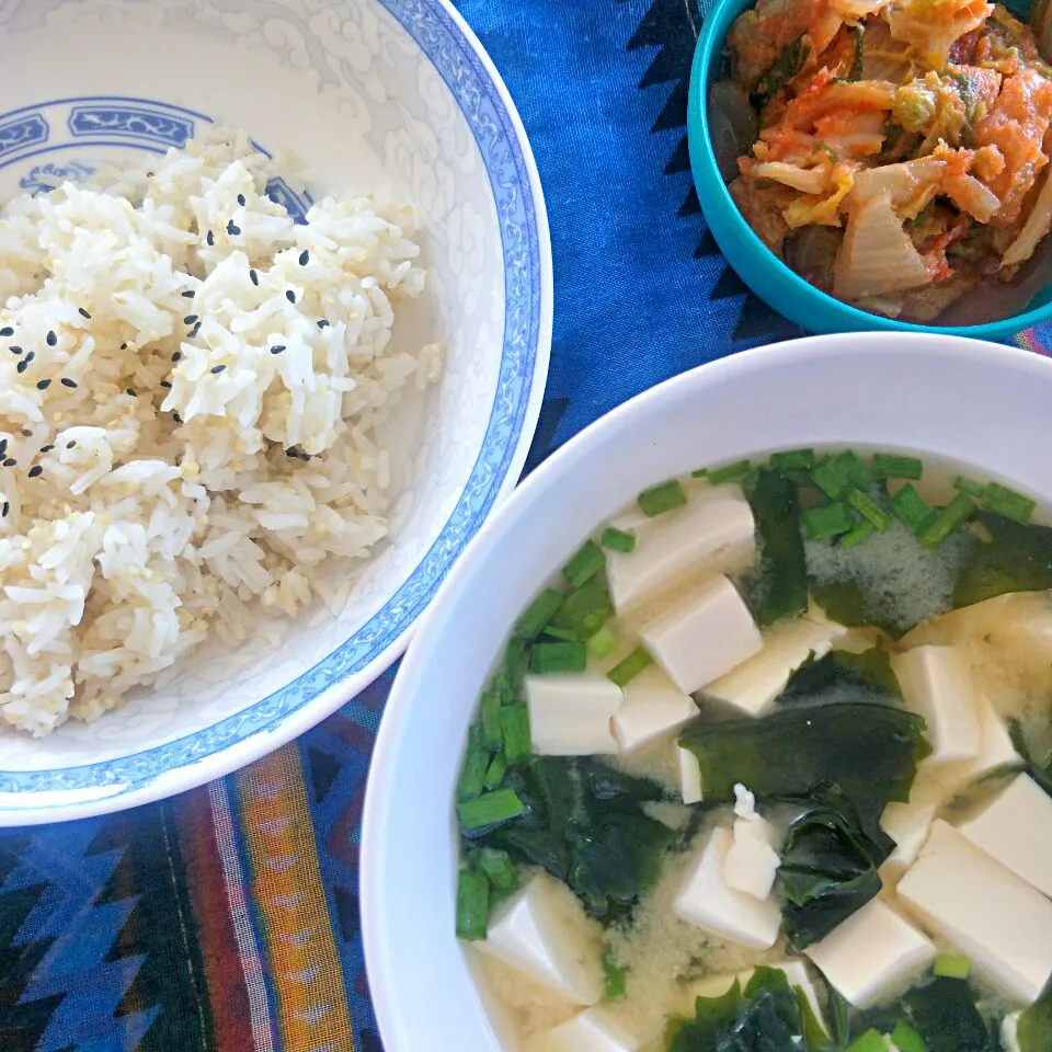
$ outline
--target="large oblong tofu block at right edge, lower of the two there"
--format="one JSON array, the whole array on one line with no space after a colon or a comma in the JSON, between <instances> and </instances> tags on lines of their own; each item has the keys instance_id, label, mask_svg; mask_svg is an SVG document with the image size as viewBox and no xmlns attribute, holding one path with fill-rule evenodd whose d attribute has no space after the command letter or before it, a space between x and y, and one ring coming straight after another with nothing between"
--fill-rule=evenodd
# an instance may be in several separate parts
<instances>
[{"instance_id":1,"label":"large oblong tofu block at right edge, lower of the two there","mask_svg":"<svg viewBox=\"0 0 1052 1052\"><path fill-rule=\"evenodd\" d=\"M899 899L1010 996L1029 1004L1052 975L1052 902L941 819Z\"/></svg>"}]
</instances>

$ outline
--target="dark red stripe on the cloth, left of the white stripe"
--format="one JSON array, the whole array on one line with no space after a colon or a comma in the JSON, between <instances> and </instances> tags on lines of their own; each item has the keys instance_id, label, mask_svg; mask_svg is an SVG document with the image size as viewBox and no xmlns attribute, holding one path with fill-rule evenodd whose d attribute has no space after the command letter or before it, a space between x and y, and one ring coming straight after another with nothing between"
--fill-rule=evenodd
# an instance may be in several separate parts
<instances>
[{"instance_id":1,"label":"dark red stripe on the cloth, left of the white stripe","mask_svg":"<svg viewBox=\"0 0 1052 1052\"><path fill-rule=\"evenodd\" d=\"M208 789L185 793L176 809L179 842L205 961L208 996L216 1022L217 1052L248 1052L252 1039L249 997L230 919Z\"/></svg>"}]
</instances>

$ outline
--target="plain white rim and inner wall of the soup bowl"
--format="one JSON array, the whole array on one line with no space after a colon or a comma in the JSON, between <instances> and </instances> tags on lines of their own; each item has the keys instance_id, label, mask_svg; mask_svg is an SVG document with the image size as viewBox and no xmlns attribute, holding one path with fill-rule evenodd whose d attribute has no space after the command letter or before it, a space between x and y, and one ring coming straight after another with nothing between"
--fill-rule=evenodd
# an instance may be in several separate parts
<instances>
[{"instance_id":1,"label":"plain white rim and inner wall of the soup bowl","mask_svg":"<svg viewBox=\"0 0 1052 1052\"><path fill-rule=\"evenodd\" d=\"M536 590L647 485L776 449L856 445L962 462L1052 501L1052 363L941 335L817 336L672 379L563 447L487 524L422 621L365 809L363 917L388 1052L500 1048L454 938L454 787L491 663Z\"/></svg>"}]
</instances>

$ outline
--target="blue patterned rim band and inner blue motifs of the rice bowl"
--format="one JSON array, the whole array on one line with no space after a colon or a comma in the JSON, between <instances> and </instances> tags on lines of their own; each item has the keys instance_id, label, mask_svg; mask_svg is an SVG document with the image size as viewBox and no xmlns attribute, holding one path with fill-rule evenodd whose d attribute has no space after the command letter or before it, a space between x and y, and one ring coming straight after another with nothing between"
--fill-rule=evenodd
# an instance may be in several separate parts
<instances>
[{"instance_id":1,"label":"blue patterned rim band and inner blue motifs of the rice bowl","mask_svg":"<svg viewBox=\"0 0 1052 1052\"><path fill-rule=\"evenodd\" d=\"M211 727L129 756L57 770L0 770L0 791L33 794L119 787L108 797L119 800L167 773L207 759L250 736L277 730L291 713L365 670L410 628L500 493L526 422L541 339L544 260L529 168L500 89L442 0L379 2L416 42L456 99L489 174L501 228L506 300L503 353L493 410L465 491L437 540L398 593L351 639L293 683ZM129 128L128 134L138 138L140 148L163 152L187 130L179 119L167 119L151 128L144 124L142 100L121 102L127 105L112 107L108 114L91 112L90 106L80 108L76 122L72 115L69 117L70 133L89 136L96 145L126 146L128 141L113 138L121 135L114 129ZM178 107L163 108L170 117L167 111ZM22 113L10 119L14 116L0 117L0 168L10 160L5 152L24 158L28 139L35 147L28 150L34 157L49 151L45 117ZM156 114L147 116L152 119ZM192 116L208 121L201 114ZM142 141L144 136L149 142ZM37 179L54 174L44 171L44 165L34 171ZM47 810L31 798L25 807Z\"/></svg>"}]
</instances>

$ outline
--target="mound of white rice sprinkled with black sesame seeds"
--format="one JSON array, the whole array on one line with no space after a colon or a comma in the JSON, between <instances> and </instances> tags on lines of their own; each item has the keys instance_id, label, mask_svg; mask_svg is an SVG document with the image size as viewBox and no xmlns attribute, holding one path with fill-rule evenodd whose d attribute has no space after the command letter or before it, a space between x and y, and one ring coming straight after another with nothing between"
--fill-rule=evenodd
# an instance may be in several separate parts
<instances>
[{"instance_id":1,"label":"mound of white rice sprinkled with black sesame seeds","mask_svg":"<svg viewBox=\"0 0 1052 1052\"><path fill-rule=\"evenodd\" d=\"M330 596L387 531L376 428L441 369L438 346L391 342L424 286L415 217L379 192L297 226L265 195L273 174L216 133L0 213L15 728L94 719L209 629L232 644L262 609Z\"/></svg>"}]
</instances>

